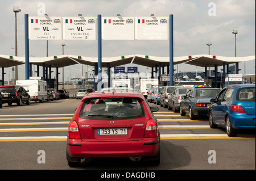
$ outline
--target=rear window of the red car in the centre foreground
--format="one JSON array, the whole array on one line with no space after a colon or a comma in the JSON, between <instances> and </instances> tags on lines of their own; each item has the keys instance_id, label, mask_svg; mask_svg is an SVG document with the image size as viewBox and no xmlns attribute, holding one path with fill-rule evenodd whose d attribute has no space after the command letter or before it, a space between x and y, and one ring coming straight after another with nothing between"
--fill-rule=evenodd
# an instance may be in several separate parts
<instances>
[{"instance_id":1,"label":"rear window of the red car in the centre foreground","mask_svg":"<svg viewBox=\"0 0 256 181\"><path fill-rule=\"evenodd\" d=\"M85 99L79 116L82 119L123 120L136 119L144 115L141 99L108 97Z\"/></svg>"}]
</instances>

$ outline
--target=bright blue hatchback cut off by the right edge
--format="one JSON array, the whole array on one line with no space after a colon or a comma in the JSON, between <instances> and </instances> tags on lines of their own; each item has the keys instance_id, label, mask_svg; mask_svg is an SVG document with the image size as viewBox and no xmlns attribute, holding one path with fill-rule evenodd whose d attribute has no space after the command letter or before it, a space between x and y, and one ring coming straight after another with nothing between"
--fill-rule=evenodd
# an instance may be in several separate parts
<instances>
[{"instance_id":1,"label":"bright blue hatchback cut off by the right edge","mask_svg":"<svg viewBox=\"0 0 256 181\"><path fill-rule=\"evenodd\" d=\"M255 129L255 84L226 86L211 102L210 128L226 128L230 137L237 129Z\"/></svg>"}]
</instances>

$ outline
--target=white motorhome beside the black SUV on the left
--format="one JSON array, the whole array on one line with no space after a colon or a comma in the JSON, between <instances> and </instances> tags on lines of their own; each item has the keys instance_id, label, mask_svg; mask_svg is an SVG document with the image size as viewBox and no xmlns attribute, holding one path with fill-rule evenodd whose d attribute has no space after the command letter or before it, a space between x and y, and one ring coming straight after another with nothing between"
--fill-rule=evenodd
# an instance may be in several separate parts
<instances>
[{"instance_id":1,"label":"white motorhome beside the black SUV on the left","mask_svg":"<svg viewBox=\"0 0 256 181\"><path fill-rule=\"evenodd\" d=\"M41 103L44 100L48 99L47 96L47 83L42 80L22 80L16 81L16 85L23 86L25 90L28 90L30 94L30 100L40 101Z\"/></svg>"}]
</instances>

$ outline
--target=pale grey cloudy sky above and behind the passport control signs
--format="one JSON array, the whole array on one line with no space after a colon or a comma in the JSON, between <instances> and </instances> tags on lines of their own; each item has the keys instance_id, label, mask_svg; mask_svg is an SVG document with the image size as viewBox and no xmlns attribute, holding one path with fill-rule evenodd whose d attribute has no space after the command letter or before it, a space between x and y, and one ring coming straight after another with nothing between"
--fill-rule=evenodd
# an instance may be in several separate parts
<instances>
[{"instance_id":1,"label":"pale grey cloudy sky above and behind the passport control signs","mask_svg":"<svg viewBox=\"0 0 256 181\"><path fill-rule=\"evenodd\" d=\"M255 0L0 0L0 54L15 55L15 19L13 6L22 11L17 14L18 56L24 56L24 14L38 16L45 5L49 16L169 16L174 15L174 56L210 54L234 56L234 34L237 30L237 57L255 55ZM216 7L214 9L214 7ZM49 56L64 54L97 57L97 40L51 40ZM102 57L130 54L169 56L168 40L102 40ZM46 40L30 40L30 55L46 56ZM133 65L137 66L137 65ZM176 65L175 65L176 66ZM196 70L186 64L179 70ZM221 69L221 68L219 68ZM244 73L244 64L240 64ZM150 71L139 66L139 71ZM197 70L204 68L197 67ZM2 70L0 70L2 71ZM9 74L9 68L5 72ZM41 70L40 70L41 71ZM55 71L55 70L54 70ZM42 71L41 71L42 72ZM61 70L59 72L62 72ZM246 62L246 74L255 73L255 60ZM72 75L71 75L72 74ZM0 75L1 76L1 75ZM81 65L64 68L64 80L81 77ZM24 79L24 66L18 66L18 77ZM55 77L55 75L52 75ZM62 76L60 76L62 81Z\"/></svg>"}]
</instances>

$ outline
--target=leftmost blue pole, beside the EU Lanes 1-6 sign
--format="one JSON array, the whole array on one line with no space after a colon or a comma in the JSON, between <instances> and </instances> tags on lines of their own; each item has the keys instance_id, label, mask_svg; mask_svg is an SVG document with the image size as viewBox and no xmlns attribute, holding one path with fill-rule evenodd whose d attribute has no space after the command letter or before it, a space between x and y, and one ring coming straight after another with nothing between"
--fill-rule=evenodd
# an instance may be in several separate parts
<instances>
[{"instance_id":1,"label":"leftmost blue pole, beside the EU Lanes 1-6 sign","mask_svg":"<svg viewBox=\"0 0 256 181\"><path fill-rule=\"evenodd\" d=\"M28 40L28 14L25 17L25 72L26 80L30 79L30 51L29 51L29 40Z\"/></svg>"}]
</instances>

